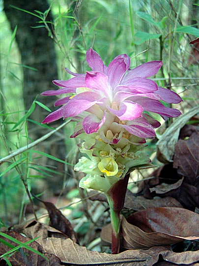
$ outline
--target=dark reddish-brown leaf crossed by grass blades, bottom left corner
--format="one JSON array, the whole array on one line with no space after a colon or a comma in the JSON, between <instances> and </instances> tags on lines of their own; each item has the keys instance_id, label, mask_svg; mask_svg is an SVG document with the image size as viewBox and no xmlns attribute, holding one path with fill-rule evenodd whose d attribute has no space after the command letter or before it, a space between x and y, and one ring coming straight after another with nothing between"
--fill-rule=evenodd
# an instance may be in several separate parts
<instances>
[{"instance_id":1,"label":"dark reddish-brown leaf crossed by grass blades, bottom left corner","mask_svg":"<svg viewBox=\"0 0 199 266\"><path fill-rule=\"evenodd\" d=\"M20 233L10 231L10 232L3 232L7 235L19 240L22 243L26 243L30 240L30 238L22 236ZM6 237L0 236L1 241L4 240L11 244L12 246L16 247L19 244L9 240ZM0 241L0 256L9 251L11 248L5 245ZM44 254L43 248L38 244L38 242L33 241L30 244L28 244L31 248L39 251L40 253ZM15 252L12 256L7 256L12 266L60 266L61 261L54 255L54 254L44 254L48 260L41 257L40 255L37 255L36 253L26 249L26 248L20 248L17 252ZM0 260L0 263L3 263L3 259Z\"/></svg>"}]
</instances>

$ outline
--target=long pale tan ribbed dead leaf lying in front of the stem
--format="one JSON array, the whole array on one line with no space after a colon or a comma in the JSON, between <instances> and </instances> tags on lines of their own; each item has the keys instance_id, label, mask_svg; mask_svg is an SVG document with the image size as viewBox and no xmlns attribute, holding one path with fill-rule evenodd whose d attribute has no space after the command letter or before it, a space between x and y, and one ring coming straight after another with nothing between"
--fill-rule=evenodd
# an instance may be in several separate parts
<instances>
[{"instance_id":1,"label":"long pale tan ribbed dead leaf lying in front of the stem","mask_svg":"<svg viewBox=\"0 0 199 266\"><path fill-rule=\"evenodd\" d=\"M48 228L48 229L47 229ZM38 243L43 247L44 251L47 253L53 253L56 255L62 263L67 263L69 265L132 265L132 263L139 263L138 265L143 265L142 262L150 259L149 255L146 255L140 251L132 252L130 254L111 255L106 253L99 253L95 251L89 251L85 247L81 247L74 243L70 238L58 238L55 236L48 237L48 231L54 231L55 229L50 229L49 226L44 224L34 222L29 224L23 231L28 237L35 238L38 235ZM141 264L140 264L141 263Z\"/></svg>"}]
</instances>

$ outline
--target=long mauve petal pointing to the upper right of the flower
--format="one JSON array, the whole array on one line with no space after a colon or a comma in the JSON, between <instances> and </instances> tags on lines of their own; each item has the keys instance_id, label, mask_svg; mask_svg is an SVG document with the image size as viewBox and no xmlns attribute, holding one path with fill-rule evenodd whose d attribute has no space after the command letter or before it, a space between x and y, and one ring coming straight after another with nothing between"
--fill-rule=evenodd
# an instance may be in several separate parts
<instances>
[{"instance_id":1,"label":"long mauve petal pointing to the upper right of the flower","mask_svg":"<svg viewBox=\"0 0 199 266\"><path fill-rule=\"evenodd\" d=\"M134 77L150 77L157 74L158 70L162 66L162 61L151 61L144 63L140 66L137 66L131 69L127 75L125 76L124 80L128 80Z\"/></svg>"}]
</instances>

